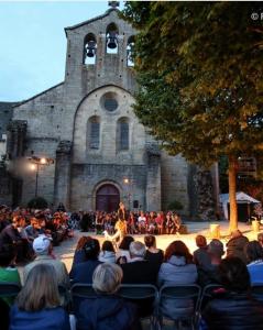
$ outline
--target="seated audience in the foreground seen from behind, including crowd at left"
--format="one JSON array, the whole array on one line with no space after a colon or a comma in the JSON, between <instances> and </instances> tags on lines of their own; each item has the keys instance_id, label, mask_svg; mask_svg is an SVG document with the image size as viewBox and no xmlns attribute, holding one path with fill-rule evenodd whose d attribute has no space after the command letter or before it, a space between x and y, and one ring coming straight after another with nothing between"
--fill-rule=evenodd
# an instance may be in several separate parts
<instances>
[{"instance_id":1,"label":"seated audience in the foreground seen from behind, including crowd at left","mask_svg":"<svg viewBox=\"0 0 263 330\"><path fill-rule=\"evenodd\" d=\"M65 264L53 253L59 234L54 226L63 223L57 220L61 213L55 218L43 213L37 218L36 213L28 218L20 210L19 215L1 218L4 224L0 233L0 282L20 285L15 262L20 257L31 260L23 268L24 285L17 299L0 299L1 316L7 317L4 330L66 330L70 326L77 330L140 330L140 317L153 310L153 300L146 304L123 300L118 295L121 284L149 284L157 289L165 285L198 284L204 288L215 284L211 299L200 309L200 329L262 329L263 302L251 295L253 284L263 284L261 235L259 241L249 242L240 231L234 231L226 244L226 256L220 240L207 243L202 235L196 237L197 249L193 255L177 235L163 252L156 246L154 230L144 237L144 243L125 235L118 246L108 240L100 246L97 239L81 237L68 274ZM140 217L146 218L144 213ZM149 223L153 223L153 218L151 215ZM176 234L177 230L167 224L172 218L173 215L166 216L166 226ZM143 221L147 220L141 219L141 226ZM133 230L138 230L136 226ZM92 284L95 290L94 299L80 299L72 306L76 324L58 292L61 286L70 288L69 279L72 285ZM193 306L190 298L179 304L166 299L160 312L176 320L183 314L193 312Z\"/></svg>"}]
</instances>

